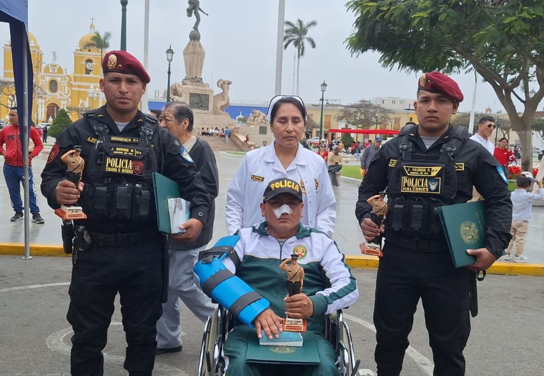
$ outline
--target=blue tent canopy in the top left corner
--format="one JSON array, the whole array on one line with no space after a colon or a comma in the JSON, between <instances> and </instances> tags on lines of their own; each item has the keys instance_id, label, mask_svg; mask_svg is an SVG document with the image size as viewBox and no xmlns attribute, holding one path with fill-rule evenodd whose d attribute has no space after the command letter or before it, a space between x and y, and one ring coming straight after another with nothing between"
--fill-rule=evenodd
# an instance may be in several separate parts
<instances>
[{"instance_id":1,"label":"blue tent canopy in the top left corner","mask_svg":"<svg viewBox=\"0 0 544 376\"><path fill-rule=\"evenodd\" d=\"M15 92L17 97L18 113L22 113L23 106L23 71L28 72L28 112L27 119L30 126L32 119L32 89L33 71L28 46L28 0L0 0L0 22L9 23L11 36L11 56L13 59L13 75L15 78ZM25 51L26 50L26 51ZM23 65L23 54L27 53L27 66ZM22 116L21 116L22 122Z\"/></svg>"}]
</instances>

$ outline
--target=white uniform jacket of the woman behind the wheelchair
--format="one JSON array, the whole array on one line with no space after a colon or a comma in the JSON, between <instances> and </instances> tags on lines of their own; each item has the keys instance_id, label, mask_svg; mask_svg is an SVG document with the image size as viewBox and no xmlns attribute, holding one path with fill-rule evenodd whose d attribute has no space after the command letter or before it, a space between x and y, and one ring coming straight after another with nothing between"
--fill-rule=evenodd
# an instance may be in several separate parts
<instances>
[{"instance_id":1,"label":"white uniform jacket of the woman behind the wheelchair","mask_svg":"<svg viewBox=\"0 0 544 376\"><path fill-rule=\"evenodd\" d=\"M336 198L325 161L317 153L299 145L293 162L285 169L276 156L274 144L246 153L234 175L227 190L225 207L228 235L234 235L242 227L264 221L259 207L263 202L264 189L270 181L280 177L301 184L304 198L304 217L301 223L332 237Z\"/></svg>"}]
</instances>

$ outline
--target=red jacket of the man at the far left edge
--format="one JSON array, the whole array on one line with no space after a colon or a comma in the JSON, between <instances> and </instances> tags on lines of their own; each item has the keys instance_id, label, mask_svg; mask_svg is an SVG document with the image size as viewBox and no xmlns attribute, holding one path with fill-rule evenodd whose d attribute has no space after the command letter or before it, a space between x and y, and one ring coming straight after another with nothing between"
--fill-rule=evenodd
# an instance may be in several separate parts
<instances>
[{"instance_id":1,"label":"red jacket of the man at the far left edge","mask_svg":"<svg viewBox=\"0 0 544 376\"><path fill-rule=\"evenodd\" d=\"M22 167L23 166L23 154L20 138L20 129L18 125L8 124L2 130L0 130L0 153L4 151L5 144L5 163ZM34 143L34 150L29 153L28 164L32 164L32 158L38 156L38 154L44 149L44 144L41 141L40 135L36 128L30 127L30 139Z\"/></svg>"}]
</instances>

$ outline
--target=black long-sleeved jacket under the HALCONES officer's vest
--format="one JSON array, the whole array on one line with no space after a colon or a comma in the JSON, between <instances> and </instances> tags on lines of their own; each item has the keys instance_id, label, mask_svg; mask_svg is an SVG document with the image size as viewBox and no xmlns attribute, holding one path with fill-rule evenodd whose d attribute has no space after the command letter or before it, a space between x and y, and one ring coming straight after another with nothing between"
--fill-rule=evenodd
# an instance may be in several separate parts
<instances>
[{"instance_id":1,"label":"black long-sleeved jacket under the HALCONES officer's vest","mask_svg":"<svg viewBox=\"0 0 544 376\"><path fill-rule=\"evenodd\" d=\"M438 155L441 145L452 134L453 127L450 125L448 131L429 149L426 149L418 132L409 135L409 138L415 141L413 153ZM399 140L398 137L395 137L382 146L370 162L368 171L359 187L358 201L355 206L355 215L359 223L364 218L370 218L372 207L367 203L367 199L386 189L394 164L398 159ZM498 171L500 165L489 151L471 139L463 143L460 149L455 152L454 162L459 164L459 170L456 171L458 186L453 203L460 204L470 200L472 186L485 198L486 248L498 258L510 242L512 222L512 201L508 184L505 183ZM387 241L387 229L384 236Z\"/></svg>"}]
</instances>

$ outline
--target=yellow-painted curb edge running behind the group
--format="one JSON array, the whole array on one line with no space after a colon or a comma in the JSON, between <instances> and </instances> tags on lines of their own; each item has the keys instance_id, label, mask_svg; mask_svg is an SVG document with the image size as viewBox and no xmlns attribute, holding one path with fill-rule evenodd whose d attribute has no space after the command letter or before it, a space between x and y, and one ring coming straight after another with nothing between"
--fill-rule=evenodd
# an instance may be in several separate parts
<instances>
[{"instance_id":1,"label":"yellow-painted curb edge running behind the group","mask_svg":"<svg viewBox=\"0 0 544 376\"><path fill-rule=\"evenodd\" d=\"M22 256L24 244L0 243L0 255ZM60 245L30 244L32 256L70 256L64 253ZM346 263L351 268L377 269L379 259L376 256L345 256ZM514 262L496 262L487 269L489 274L533 275L544 277L544 264L526 264Z\"/></svg>"}]
</instances>

